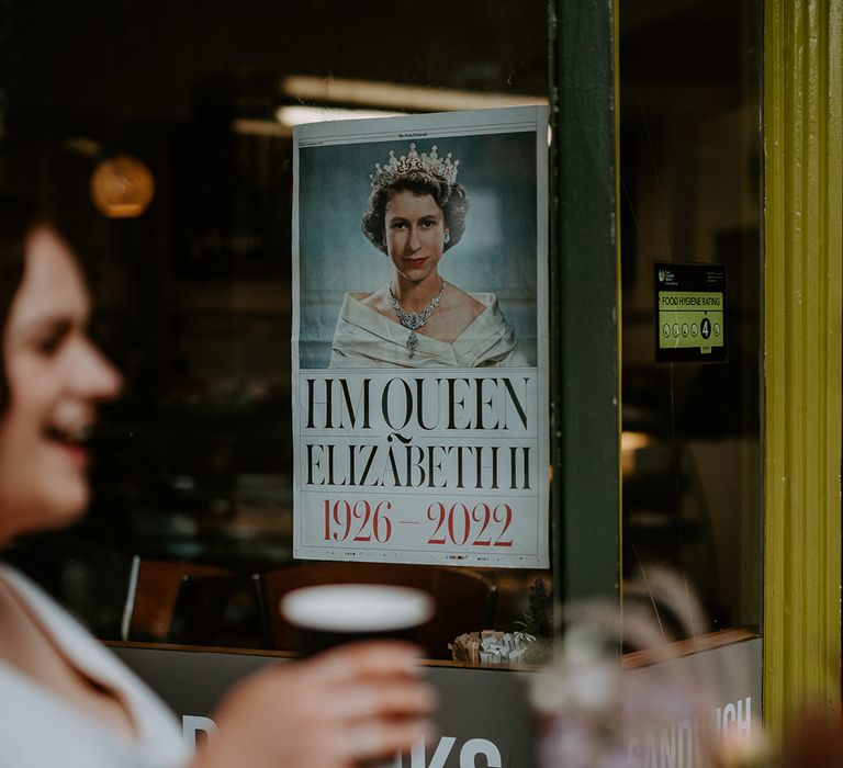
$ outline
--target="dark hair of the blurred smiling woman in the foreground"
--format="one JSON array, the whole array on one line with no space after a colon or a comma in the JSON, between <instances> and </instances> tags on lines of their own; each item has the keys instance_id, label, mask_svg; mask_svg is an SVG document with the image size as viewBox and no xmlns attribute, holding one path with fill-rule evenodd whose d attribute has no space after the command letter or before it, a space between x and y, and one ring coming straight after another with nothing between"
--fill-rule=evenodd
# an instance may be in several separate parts
<instances>
[{"instance_id":1,"label":"dark hair of the blurred smiling woman in the foreground","mask_svg":"<svg viewBox=\"0 0 843 768\"><path fill-rule=\"evenodd\" d=\"M34 229L46 223L46 216L34 205L0 194L0 414L9 405L3 349L5 325L14 296L23 282L26 240Z\"/></svg>"}]
</instances>

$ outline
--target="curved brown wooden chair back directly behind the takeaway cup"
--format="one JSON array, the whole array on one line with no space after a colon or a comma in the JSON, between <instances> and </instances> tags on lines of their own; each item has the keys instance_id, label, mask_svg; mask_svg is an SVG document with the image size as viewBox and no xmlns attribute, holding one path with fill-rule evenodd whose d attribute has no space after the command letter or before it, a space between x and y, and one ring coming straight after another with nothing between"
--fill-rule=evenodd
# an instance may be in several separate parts
<instances>
[{"instance_id":1,"label":"curved brown wooden chair back directly behind the takeaway cup","mask_svg":"<svg viewBox=\"0 0 843 768\"><path fill-rule=\"evenodd\" d=\"M430 658L450 658L448 643L463 632L490 629L494 618L496 587L484 576L435 565L387 563L308 563L256 574L258 602L267 647L295 650L295 629L279 610L281 598L299 587L319 584L391 584L416 587L436 601L432 619L418 633L418 642Z\"/></svg>"}]
</instances>

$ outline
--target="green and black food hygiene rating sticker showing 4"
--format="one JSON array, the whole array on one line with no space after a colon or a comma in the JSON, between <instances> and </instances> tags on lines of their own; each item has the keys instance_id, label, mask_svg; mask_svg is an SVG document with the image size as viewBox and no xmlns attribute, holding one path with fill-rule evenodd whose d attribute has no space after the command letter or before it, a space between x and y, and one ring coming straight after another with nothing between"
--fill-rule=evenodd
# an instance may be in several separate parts
<instances>
[{"instance_id":1,"label":"green and black food hygiene rating sticker showing 4","mask_svg":"<svg viewBox=\"0 0 843 768\"><path fill-rule=\"evenodd\" d=\"M657 362L726 361L726 267L655 264L654 293Z\"/></svg>"}]
</instances>

